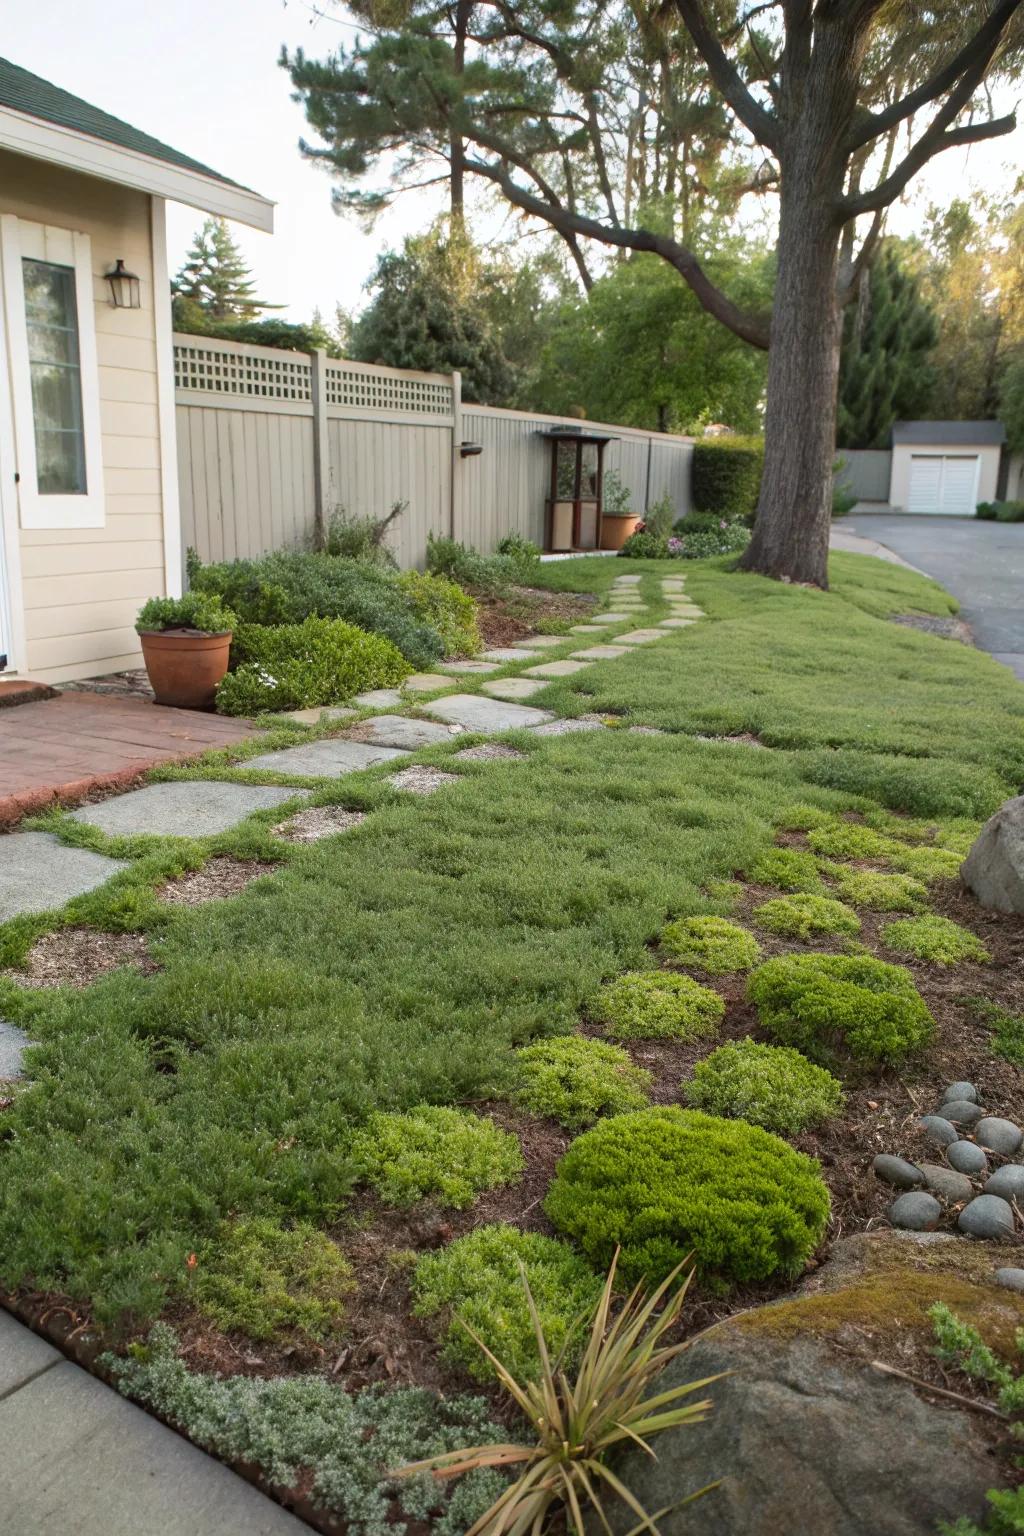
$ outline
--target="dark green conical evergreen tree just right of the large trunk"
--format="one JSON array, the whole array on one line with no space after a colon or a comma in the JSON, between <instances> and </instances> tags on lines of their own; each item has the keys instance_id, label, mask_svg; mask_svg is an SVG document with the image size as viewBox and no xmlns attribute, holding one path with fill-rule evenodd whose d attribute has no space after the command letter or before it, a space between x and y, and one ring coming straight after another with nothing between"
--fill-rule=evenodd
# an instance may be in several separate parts
<instances>
[{"instance_id":1,"label":"dark green conical evergreen tree just right of the large trunk","mask_svg":"<svg viewBox=\"0 0 1024 1536\"><path fill-rule=\"evenodd\" d=\"M938 341L932 307L917 278L886 244L843 316L837 442L886 449L894 421L929 413L935 393L930 356Z\"/></svg>"}]
</instances>

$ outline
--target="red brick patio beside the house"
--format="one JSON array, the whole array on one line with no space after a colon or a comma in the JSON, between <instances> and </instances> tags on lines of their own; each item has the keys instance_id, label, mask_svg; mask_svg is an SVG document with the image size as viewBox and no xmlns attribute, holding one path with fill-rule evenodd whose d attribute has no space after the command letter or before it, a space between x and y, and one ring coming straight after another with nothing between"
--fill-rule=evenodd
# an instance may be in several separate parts
<instances>
[{"instance_id":1,"label":"red brick patio beside the house","mask_svg":"<svg viewBox=\"0 0 1024 1536\"><path fill-rule=\"evenodd\" d=\"M249 720L117 694L58 693L0 710L0 826L252 734Z\"/></svg>"}]
</instances>

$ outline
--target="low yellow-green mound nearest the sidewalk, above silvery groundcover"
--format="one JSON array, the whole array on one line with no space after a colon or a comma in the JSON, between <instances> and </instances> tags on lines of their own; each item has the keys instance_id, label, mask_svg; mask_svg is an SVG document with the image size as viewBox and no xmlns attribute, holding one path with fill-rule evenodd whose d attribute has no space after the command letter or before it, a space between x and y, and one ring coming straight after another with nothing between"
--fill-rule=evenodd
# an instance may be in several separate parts
<instances>
[{"instance_id":1,"label":"low yellow-green mound nearest the sidewalk, above silvery groundcover","mask_svg":"<svg viewBox=\"0 0 1024 1536\"><path fill-rule=\"evenodd\" d=\"M250 1339L335 1335L352 1289L352 1266L330 1238L304 1221L281 1227L263 1217L223 1223L192 1275L200 1312Z\"/></svg>"}]
</instances>

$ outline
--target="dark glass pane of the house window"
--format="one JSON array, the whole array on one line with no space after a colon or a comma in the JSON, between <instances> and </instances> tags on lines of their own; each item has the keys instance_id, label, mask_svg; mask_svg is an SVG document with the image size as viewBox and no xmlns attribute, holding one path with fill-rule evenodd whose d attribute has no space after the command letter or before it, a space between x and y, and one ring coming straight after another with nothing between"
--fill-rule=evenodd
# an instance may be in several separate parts
<instances>
[{"instance_id":1,"label":"dark glass pane of the house window","mask_svg":"<svg viewBox=\"0 0 1024 1536\"><path fill-rule=\"evenodd\" d=\"M84 496L86 449L75 273L52 261L23 261L21 270L38 493Z\"/></svg>"}]
</instances>

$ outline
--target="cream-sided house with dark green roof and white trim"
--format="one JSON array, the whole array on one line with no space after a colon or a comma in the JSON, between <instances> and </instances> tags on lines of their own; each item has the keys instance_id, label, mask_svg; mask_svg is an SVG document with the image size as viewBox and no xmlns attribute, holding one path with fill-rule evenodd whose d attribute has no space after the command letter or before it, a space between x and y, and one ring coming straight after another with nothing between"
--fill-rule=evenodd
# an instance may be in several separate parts
<instances>
[{"instance_id":1,"label":"cream-sided house with dark green roof and white trim","mask_svg":"<svg viewBox=\"0 0 1024 1536\"><path fill-rule=\"evenodd\" d=\"M0 60L8 674L135 667L140 604L181 591L167 200L273 223L258 194ZM118 261L138 307L114 301Z\"/></svg>"}]
</instances>

